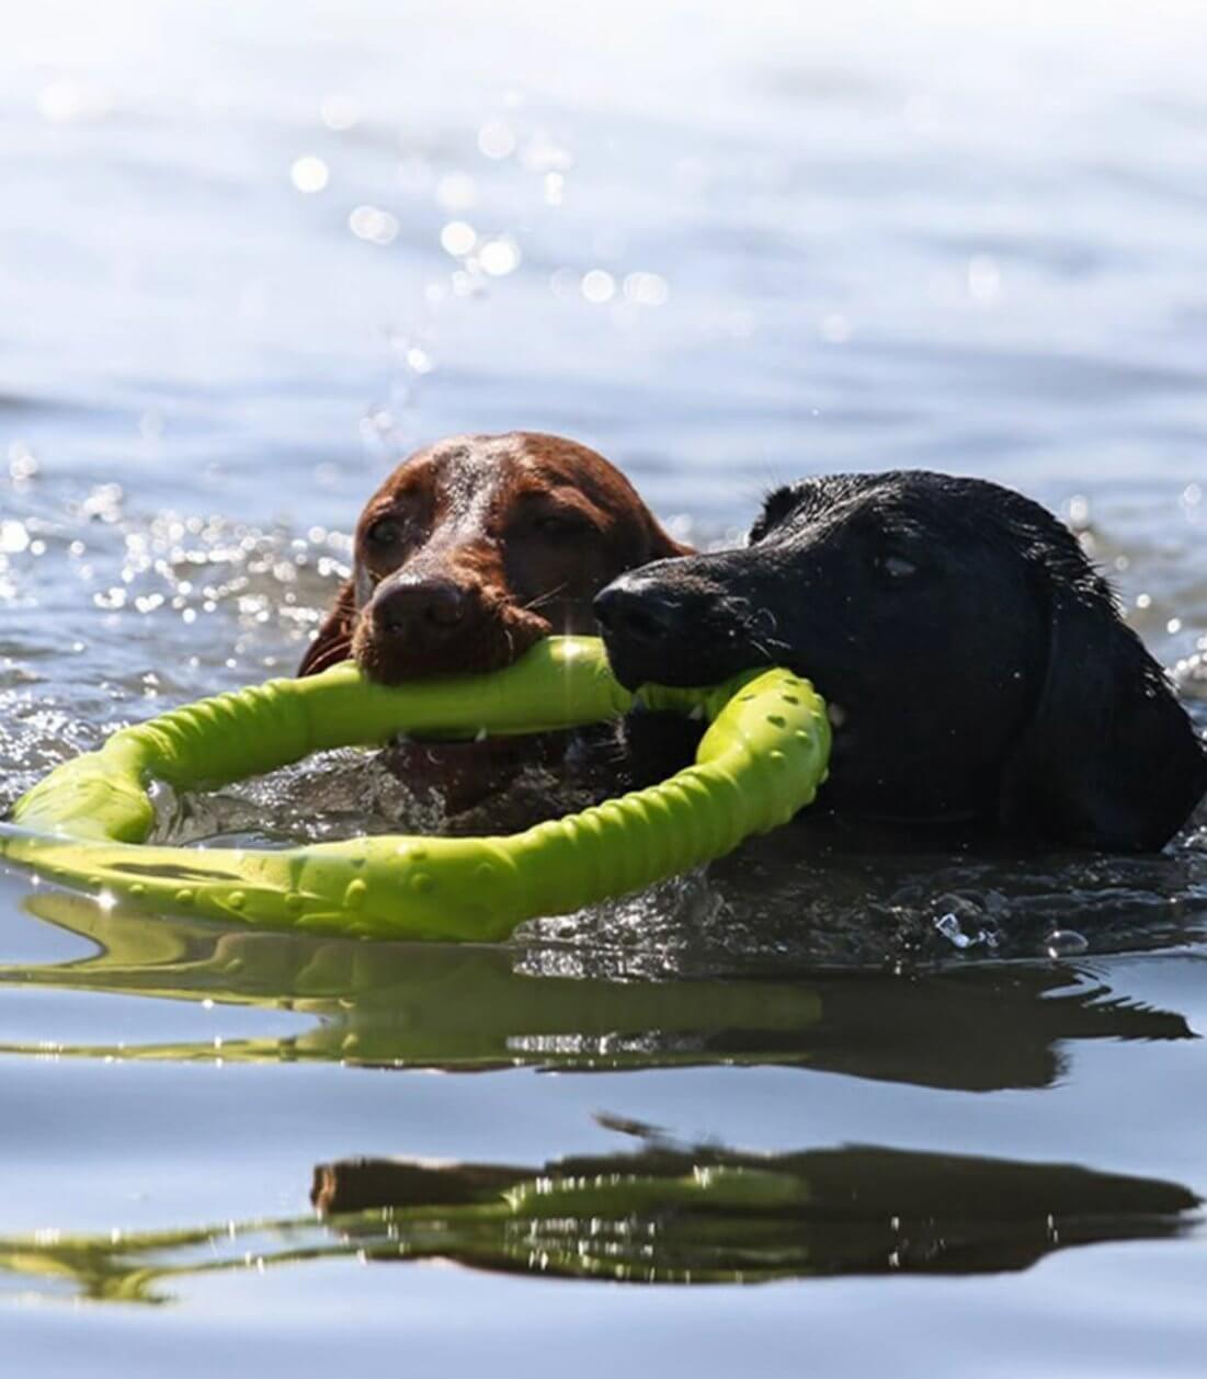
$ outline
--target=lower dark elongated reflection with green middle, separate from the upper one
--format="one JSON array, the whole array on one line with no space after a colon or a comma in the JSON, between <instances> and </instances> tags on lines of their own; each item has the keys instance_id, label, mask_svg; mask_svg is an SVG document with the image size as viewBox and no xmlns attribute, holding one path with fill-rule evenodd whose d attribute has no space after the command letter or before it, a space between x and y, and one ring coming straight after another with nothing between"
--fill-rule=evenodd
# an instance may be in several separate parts
<instances>
[{"instance_id":1,"label":"lower dark elongated reflection with green middle, separate from the upper one","mask_svg":"<svg viewBox=\"0 0 1207 1379\"><path fill-rule=\"evenodd\" d=\"M1028 1269L1069 1245L1178 1236L1200 1205L1177 1183L1069 1164L877 1146L742 1154L639 1132L637 1154L539 1168L320 1164L312 1201L370 1259L680 1284Z\"/></svg>"}]
</instances>

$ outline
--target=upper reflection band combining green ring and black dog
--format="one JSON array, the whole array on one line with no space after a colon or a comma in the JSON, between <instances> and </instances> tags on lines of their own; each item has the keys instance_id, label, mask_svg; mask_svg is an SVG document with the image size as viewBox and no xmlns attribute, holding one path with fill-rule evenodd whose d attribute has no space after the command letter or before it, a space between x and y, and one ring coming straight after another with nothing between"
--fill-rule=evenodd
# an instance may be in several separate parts
<instances>
[{"instance_id":1,"label":"upper reflection band combining green ring and black dog","mask_svg":"<svg viewBox=\"0 0 1207 1379\"><path fill-rule=\"evenodd\" d=\"M226 1062L379 1067L622 1069L774 1063L964 1091L1047 1087L1091 1041L1189 1040L1184 1015L1068 964L977 965L901 980L890 972L657 980L607 950L374 943L223 931L102 909L46 888L28 910L95 945L90 957L0 968L28 990L215 1000L290 1008L312 1023L223 1040ZM637 954L640 956L640 954ZM632 961L633 954L629 956ZM579 963L572 967L571 960ZM593 964L599 961L600 968ZM72 1044L65 1055L214 1058L197 1043ZM36 1054L36 1044L0 1052Z\"/></svg>"}]
</instances>

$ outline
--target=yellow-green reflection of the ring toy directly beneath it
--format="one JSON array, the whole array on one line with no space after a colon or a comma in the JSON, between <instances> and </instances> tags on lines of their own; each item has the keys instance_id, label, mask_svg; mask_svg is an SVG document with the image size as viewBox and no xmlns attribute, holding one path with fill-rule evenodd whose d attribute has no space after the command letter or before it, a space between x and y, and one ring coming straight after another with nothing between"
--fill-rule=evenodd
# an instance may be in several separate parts
<instances>
[{"instance_id":1,"label":"yellow-green reflection of the ring toy directly beneath it","mask_svg":"<svg viewBox=\"0 0 1207 1379\"><path fill-rule=\"evenodd\" d=\"M441 1069L770 1063L807 1058L801 1044L821 1018L821 998L800 980L528 975L516 967L532 950L501 945L367 945L177 916L148 924L132 906L46 888L25 906L95 952L0 965L0 993L44 987L290 1012L273 1033L251 1036L241 1033L246 1022L219 1016L221 1048L208 1030L196 1043L142 1043L124 1025L120 1044L61 1040L58 1058ZM109 1019L98 1026L102 1040ZM0 1055L17 1052L43 1048L0 1040Z\"/></svg>"}]
</instances>

